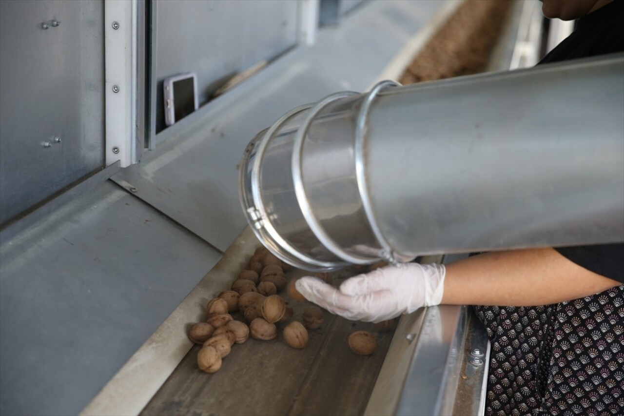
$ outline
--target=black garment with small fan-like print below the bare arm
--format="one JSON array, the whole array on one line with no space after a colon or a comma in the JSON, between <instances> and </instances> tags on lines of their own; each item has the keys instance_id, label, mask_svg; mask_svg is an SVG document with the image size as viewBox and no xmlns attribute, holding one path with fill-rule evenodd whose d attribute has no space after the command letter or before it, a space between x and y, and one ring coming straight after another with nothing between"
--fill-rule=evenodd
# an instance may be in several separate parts
<instances>
[{"instance_id":1,"label":"black garment with small fan-like print below the bare arm","mask_svg":"<svg viewBox=\"0 0 624 416\"><path fill-rule=\"evenodd\" d=\"M624 285L535 307L477 306L486 415L624 415Z\"/></svg>"}]
</instances>

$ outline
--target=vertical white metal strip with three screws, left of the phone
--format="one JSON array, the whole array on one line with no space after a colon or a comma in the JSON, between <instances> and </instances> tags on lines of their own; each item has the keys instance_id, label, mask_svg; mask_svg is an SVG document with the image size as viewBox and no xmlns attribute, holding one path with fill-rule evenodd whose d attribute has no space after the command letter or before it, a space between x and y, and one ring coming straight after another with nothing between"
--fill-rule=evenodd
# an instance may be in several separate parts
<instances>
[{"instance_id":1,"label":"vertical white metal strip with three screws, left of the phone","mask_svg":"<svg viewBox=\"0 0 624 416\"><path fill-rule=\"evenodd\" d=\"M137 0L104 1L106 165L137 162Z\"/></svg>"}]
</instances>

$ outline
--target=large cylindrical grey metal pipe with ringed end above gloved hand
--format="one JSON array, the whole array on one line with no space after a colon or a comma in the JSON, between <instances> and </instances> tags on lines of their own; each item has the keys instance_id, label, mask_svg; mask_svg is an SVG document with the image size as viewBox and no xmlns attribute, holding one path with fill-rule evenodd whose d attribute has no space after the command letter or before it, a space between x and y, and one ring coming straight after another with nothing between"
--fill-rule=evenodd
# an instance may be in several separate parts
<instances>
[{"instance_id":1,"label":"large cylindrical grey metal pipe with ringed end above gloved hand","mask_svg":"<svg viewBox=\"0 0 624 416\"><path fill-rule=\"evenodd\" d=\"M334 101L291 133L296 205L316 239L350 262L620 242L623 74L615 54ZM293 193L282 188L270 193ZM261 224L295 209L273 208Z\"/></svg>"}]
</instances>

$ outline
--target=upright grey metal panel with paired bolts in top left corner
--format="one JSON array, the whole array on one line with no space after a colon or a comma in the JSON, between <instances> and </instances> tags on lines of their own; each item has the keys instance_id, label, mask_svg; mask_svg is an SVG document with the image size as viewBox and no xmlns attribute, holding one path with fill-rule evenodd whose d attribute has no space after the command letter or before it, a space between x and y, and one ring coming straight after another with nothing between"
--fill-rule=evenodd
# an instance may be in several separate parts
<instances>
[{"instance_id":1,"label":"upright grey metal panel with paired bolts in top left corner","mask_svg":"<svg viewBox=\"0 0 624 416\"><path fill-rule=\"evenodd\" d=\"M0 1L0 224L103 164L103 4Z\"/></svg>"}]
</instances>

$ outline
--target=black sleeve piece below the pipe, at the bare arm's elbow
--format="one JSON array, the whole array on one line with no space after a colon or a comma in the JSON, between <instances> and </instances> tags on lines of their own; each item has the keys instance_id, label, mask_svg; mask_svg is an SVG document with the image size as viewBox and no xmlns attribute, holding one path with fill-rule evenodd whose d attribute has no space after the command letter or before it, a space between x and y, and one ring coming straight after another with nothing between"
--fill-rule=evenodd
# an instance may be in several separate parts
<instances>
[{"instance_id":1,"label":"black sleeve piece below the pipe, at the bare arm's elbow","mask_svg":"<svg viewBox=\"0 0 624 416\"><path fill-rule=\"evenodd\" d=\"M555 250L587 270L624 283L624 243L555 247Z\"/></svg>"}]
</instances>

